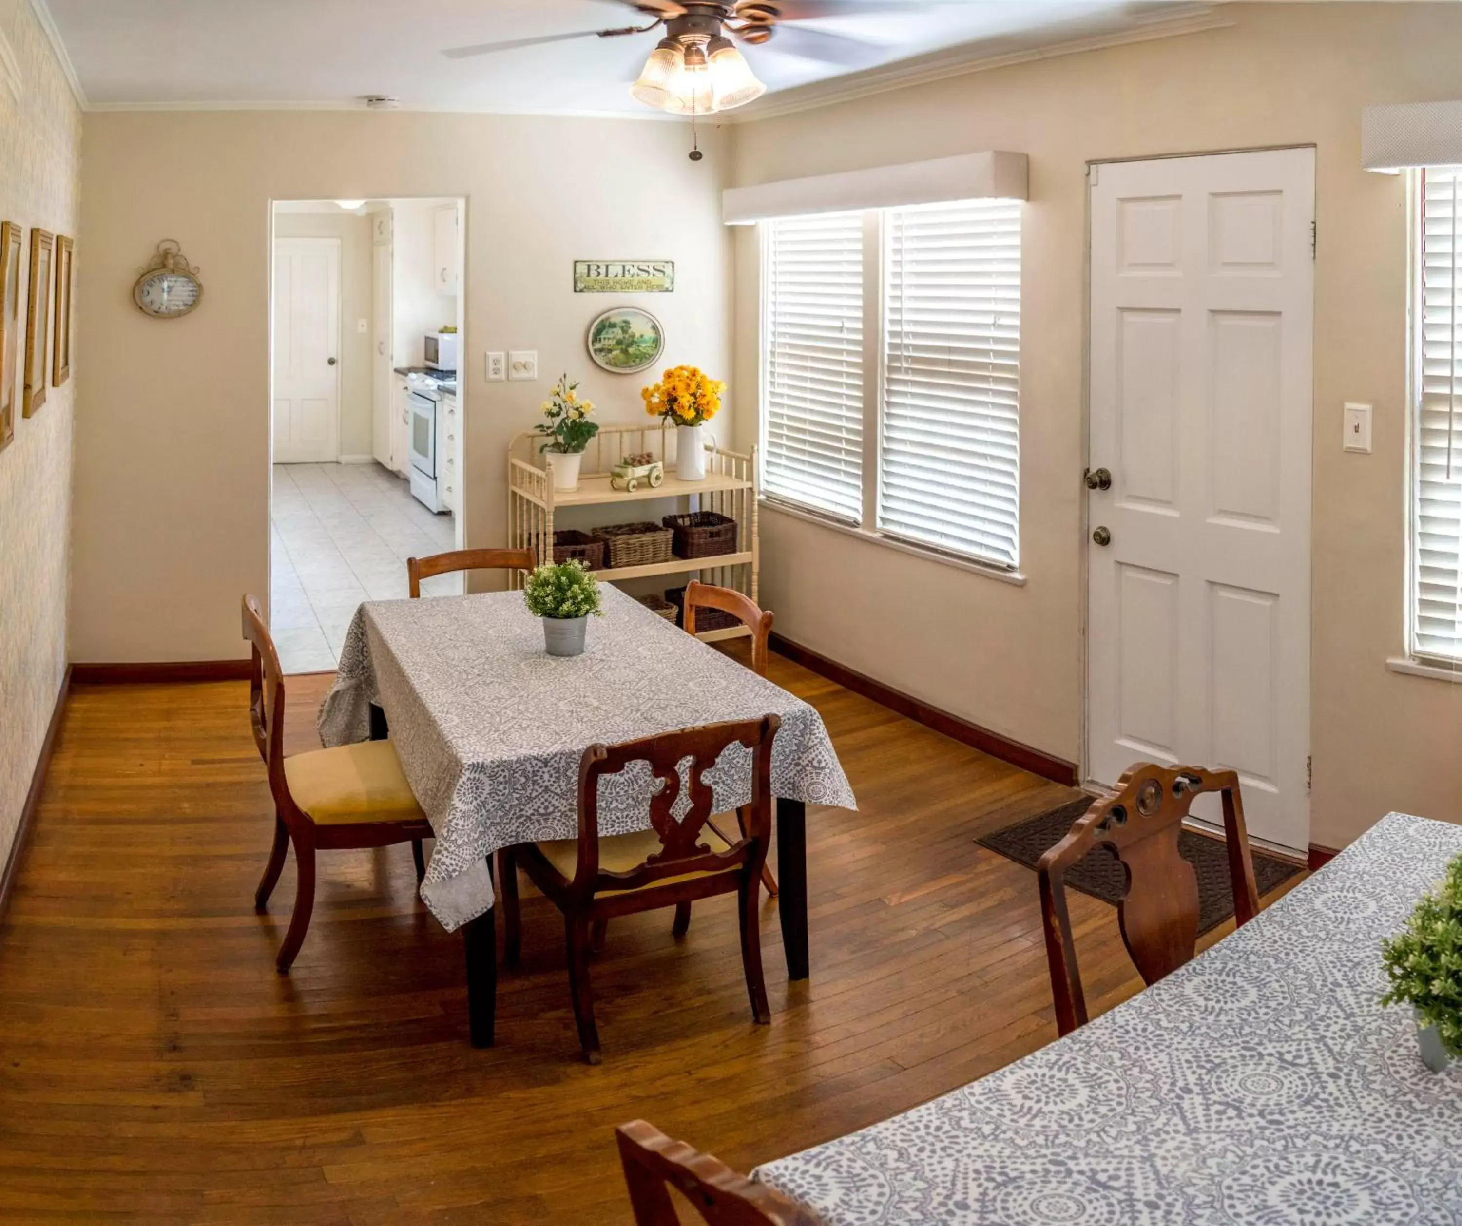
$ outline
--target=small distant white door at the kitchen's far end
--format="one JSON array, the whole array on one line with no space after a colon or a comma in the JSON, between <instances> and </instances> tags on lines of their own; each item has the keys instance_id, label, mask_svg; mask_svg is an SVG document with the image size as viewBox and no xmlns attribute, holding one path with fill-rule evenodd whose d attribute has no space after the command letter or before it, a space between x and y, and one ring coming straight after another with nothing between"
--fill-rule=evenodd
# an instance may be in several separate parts
<instances>
[{"instance_id":1,"label":"small distant white door at the kitchen's far end","mask_svg":"<svg viewBox=\"0 0 1462 1226\"><path fill-rule=\"evenodd\" d=\"M333 463L341 416L341 241L276 238L273 459Z\"/></svg>"}]
</instances>

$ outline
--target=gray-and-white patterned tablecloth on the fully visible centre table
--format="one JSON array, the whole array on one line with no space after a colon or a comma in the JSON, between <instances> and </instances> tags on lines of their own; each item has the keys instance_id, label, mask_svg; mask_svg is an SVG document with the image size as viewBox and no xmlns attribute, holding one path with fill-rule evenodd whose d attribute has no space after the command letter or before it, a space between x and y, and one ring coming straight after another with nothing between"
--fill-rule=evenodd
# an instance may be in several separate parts
<instances>
[{"instance_id":1,"label":"gray-and-white patterned tablecloth on the fully visible centre table","mask_svg":"<svg viewBox=\"0 0 1462 1226\"><path fill-rule=\"evenodd\" d=\"M436 831L421 897L449 931L493 905L487 855L577 833L579 758L697 723L782 717L772 792L855 808L817 712L604 585L588 649L544 652L519 592L360 606L320 706L326 745L364 741L379 703L402 769ZM750 799L750 754L730 747L705 779L718 812ZM602 780L599 830L649 827L649 770ZM681 796L681 802L686 798Z\"/></svg>"}]
</instances>

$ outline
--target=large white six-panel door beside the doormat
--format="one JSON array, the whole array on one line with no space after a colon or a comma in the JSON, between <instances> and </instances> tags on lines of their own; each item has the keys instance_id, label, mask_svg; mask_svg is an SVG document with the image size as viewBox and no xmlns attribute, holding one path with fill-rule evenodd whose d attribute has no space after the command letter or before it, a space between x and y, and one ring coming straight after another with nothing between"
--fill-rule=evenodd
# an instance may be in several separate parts
<instances>
[{"instance_id":1,"label":"large white six-panel door beside the doormat","mask_svg":"<svg viewBox=\"0 0 1462 1226\"><path fill-rule=\"evenodd\" d=\"M1303 849L1314 151L1092 172L1088 774L1237 770Z\"/></svg>"}]
</instances>

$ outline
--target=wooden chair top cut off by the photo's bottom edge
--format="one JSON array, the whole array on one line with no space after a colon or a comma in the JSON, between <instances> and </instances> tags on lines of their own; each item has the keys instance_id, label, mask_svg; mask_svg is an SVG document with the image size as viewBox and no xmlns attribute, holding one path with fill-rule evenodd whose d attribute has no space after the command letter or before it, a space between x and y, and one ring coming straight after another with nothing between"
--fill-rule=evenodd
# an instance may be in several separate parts
<instances>
[{"instance_id":1,"label":"wooden chair top cut off by the photo's bottom edge","mask_svg":"<svg viewBox=\"0 0 1462 1226\"><path fill-rule=\"evenodd\" d=\"M635 1226L680 1226L670 1188L684 1195L709 1226L817 1226L811 1210L684 1141L673 1141L643 1119L621 1124L614 1140Z\"/></svg>"}]
</instances>

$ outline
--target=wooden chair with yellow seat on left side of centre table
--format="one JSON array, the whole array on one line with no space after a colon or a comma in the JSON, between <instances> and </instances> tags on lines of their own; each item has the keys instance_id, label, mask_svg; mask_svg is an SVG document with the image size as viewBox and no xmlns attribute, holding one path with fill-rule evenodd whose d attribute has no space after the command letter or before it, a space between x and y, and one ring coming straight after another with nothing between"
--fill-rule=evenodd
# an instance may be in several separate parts
<instances>
[{"instance_id":1,"label":"wooden chair with yellow seat on left side of centre table","mask_svg":"<svg viewBox=\"0 0 1462 1226\"><path fill-rule=\"evenodd\" d=\"M284 755L284 669L253 596L244 596L244 639L253 644L249 722L269 772L275 802L273 848L254 893L256 910L263 912L268 906L285 853L294 843L294 915L275 960L284 973L310 928L316 852L409 842L420 883L424 872L421 840L433 834L390 741Z\"/></svg>"}]
</instances>

